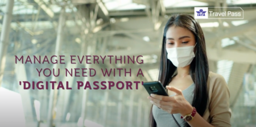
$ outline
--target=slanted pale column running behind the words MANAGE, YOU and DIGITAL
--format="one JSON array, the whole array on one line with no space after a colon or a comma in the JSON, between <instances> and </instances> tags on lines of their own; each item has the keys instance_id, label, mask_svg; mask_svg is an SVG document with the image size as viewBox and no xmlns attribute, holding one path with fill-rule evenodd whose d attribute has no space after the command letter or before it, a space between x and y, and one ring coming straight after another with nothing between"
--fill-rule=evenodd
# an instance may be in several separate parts
<instances>
[{"instance_id":1,"label":"slanted pale column running behind the words MANAGE, YOU and DIGITAL","mask_svg":"<svg viewBox=\"0 0 256 127\"><path fill-rule=\"evenodd\" d=\"M64 18L64 14L65 14L65 9L64 7L61 9L60 12L60 18L59 18L59 26L57 29L57 39L56 39L56 47L55 47L55 55L59 56L59 52L60 52L60 44L61 44L61 38L63 35L63 27L64 27L64 23L65 23L65 18ZM53 69L57 69L57 64L53 65ZM56 81L56 77L52 77L51 81ZM56 88L54 90L51 89L51 93L49 96L49 108L48 108L48 117L47 117L47 126L48 127L52 127L53 124L53 113L54 113L54 107L55 107L55 102L56 102L56 98L57 97L57 90Z\"/></svg>"}]
</instances>

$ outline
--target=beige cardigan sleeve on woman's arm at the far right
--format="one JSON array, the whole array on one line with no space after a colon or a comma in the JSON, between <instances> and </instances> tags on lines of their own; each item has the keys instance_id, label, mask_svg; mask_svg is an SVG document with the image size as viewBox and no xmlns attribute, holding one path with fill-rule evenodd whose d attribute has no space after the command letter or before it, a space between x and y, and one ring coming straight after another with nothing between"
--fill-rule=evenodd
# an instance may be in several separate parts
<instances>
[{"instance_id":1,"label":"beige cardigan sleeve on woman's arm at the far right","mask_svg":"<svg viewBox=\"0 0 256 127\"><path fill-rule=\"evenodd\" d=\"M224 77L219 74L214 75L211 80L210 83L213 83L213 87L209 103L210 124L215 127L231 127L228 85Z\"/></svg>"}]
</instances>

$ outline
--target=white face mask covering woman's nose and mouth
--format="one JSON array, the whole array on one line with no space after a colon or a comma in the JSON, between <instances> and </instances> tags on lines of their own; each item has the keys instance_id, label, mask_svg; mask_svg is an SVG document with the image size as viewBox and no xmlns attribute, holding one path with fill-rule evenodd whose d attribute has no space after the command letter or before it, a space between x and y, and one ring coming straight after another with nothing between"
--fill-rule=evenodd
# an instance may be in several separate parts
<instances>
[{"instance_id":1,"label":"white face mask covering woman's nose and mouth","mask_svg":"<svg viewBox=\"0 0 256 127\"><path fill-rule=\"evenodd\" d=\"M196 46L196 45L195 45ZM194 47L195 46L183 46L177 48L166 48L167 58L176 67L185 67L191 64L195 57Z\"/></svg>"}]
</instances>

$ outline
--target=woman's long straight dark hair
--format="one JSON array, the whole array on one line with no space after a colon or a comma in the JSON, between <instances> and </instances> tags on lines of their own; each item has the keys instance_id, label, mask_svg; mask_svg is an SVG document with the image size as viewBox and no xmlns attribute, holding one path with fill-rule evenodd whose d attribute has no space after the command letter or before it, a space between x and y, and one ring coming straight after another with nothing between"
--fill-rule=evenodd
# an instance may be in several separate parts
<instances>
[{"instance_id":1,"label":"woman's long straight dark hair","mask_svg":"<svg viewBox=\"0 0 256 127\"><path fill-rule=\"evenodd\" d=\"M193 33L196 39L196 53L195 58L190 65L190 75L195 83L195 91L192 106L196 108L197 113L203 116L207 109L208 92L207 80L209 74L208 58L205 46L205 39L203 30L200 24L191 15L179 14L171 16L164 27L162 52L160 57L159 81L166 87L171 77L175 74L177 69L170 60L167 60L166 52L166 32L168 28L178 26L188 29ZM187 124L187 126L189 126ZM150 111L150 127L156 127L156 122L152 115L152 107Z\"/></svg>"}]
</instances>

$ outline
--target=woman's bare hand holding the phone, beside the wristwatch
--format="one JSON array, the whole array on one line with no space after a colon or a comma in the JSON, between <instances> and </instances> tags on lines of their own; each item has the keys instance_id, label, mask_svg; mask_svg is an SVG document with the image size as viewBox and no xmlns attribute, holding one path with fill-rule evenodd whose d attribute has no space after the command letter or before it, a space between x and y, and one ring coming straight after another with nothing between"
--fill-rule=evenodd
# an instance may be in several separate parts
<instances>
[{"instance_id":1,"label":"woman's bare hand holding the phone, beside the wristwatch","mask_svg":"<svg viewBox=\"0 0 256 127\"><path fill-rule=\"evenodd\" d=\"M176 95L161 96L161 95L151 94L150 96L148 96L148 99L151 100L150 102L171 114L180 113L180 115L184 117L185 115L192 113L193 107L184 98L182 91L175 87L167 86L167 88L170 91L174 91Z\"/></svg>"}]
</instances>

